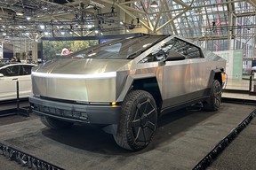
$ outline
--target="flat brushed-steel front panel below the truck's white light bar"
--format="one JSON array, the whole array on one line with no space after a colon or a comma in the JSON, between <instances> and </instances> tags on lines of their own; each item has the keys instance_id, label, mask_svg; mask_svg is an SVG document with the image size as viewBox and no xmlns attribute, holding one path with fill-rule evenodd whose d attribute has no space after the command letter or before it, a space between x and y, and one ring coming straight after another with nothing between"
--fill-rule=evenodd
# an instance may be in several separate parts
<instances>
[{"instance_id":1,"label":"flat brushed-steel front panel below the truck's white light bar","mask_svg":"<svg viewBox=\"0 0 256 170\"><path fill-rule=\"evenodd\" d=\"M62 79L32 77L37 96L78 102L112 102L116 100L116 77L105 79Z\"/></svg>"}]
</instances>

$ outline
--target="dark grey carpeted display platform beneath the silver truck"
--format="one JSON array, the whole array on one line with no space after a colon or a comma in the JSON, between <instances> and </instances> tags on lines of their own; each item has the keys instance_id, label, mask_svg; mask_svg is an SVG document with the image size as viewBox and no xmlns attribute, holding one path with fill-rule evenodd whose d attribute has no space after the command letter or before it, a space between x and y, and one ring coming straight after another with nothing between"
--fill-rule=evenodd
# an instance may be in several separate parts
<instances>
[{"instance_id":1,"label":"dark grey carpeted display platform beneath the silver truck","mask_svg":"<svg viewBox=\"0 0 256 170\"><path fill-rule=\"evenodd\" d=\"M223 103L218 112L188 109L171 112L159 119L156 136L148 148L137 152L119 148L112 135L99 128L74 126L55 131L45 128L36 117L0 124L0 143L68 170L187 170L195 168L254 110L255 105ZM14 169L12 165L18 165L3 155L0 157L0 161L8 162L0 164L0 169Z\"/></svg>"}]
</instances>

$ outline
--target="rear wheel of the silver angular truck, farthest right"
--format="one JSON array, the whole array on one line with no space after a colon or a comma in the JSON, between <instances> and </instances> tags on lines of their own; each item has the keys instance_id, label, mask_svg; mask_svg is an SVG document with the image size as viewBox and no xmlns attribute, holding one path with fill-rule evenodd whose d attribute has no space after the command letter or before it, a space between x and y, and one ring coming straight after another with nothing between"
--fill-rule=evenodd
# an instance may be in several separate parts
<instances>
[{"instance_id":1,"label":"rear wheel of the silver angular truck, farthest right","mask_svg":"<svg viewBox=\"0 0 256 170\"><path fill-rule=\"evenodd\" d=\"M205 111L218 111L221 104L221 86L220 82L214 80L210 91L210 97L203 103Z\"/></svg>"}]
</instances>

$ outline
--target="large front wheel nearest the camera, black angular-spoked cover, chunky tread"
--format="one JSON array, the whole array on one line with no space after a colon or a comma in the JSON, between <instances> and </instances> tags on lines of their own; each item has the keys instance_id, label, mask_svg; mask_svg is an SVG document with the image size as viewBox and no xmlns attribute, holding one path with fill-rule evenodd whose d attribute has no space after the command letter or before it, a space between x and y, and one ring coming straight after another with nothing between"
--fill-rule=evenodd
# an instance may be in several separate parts
<instances>
[{"instance_id":1,"label":"large front wheel nearest the camera, black angular-spoked cover, chunky tread","mask_svg":"<svg viewBox=\"0 0 256 170\"><path fill-rule=\"evenodd\" d=\"M157 126L154 97L143 90L132 90L121 108L121 118L114 135L116 143L129 151L140 151L151 142Z\"/></svg>"}]
</instances>

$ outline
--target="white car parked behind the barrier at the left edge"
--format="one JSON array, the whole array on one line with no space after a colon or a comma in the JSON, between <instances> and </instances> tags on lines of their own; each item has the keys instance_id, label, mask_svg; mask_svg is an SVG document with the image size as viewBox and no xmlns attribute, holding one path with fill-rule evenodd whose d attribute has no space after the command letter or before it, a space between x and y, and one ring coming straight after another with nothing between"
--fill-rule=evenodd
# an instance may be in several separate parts
<instances>
[{"instance_id":1,"label":"white car parked behind the barrier at the left edge","mask_svg":"<svg viewBox=\"0 0 256 170\"><path fill-rule=\"evenodd\" d=\"M26 98L31 93L31 68L36 65L22 63L0 63L0 101Z\"/></svg>"}]
</instances>

